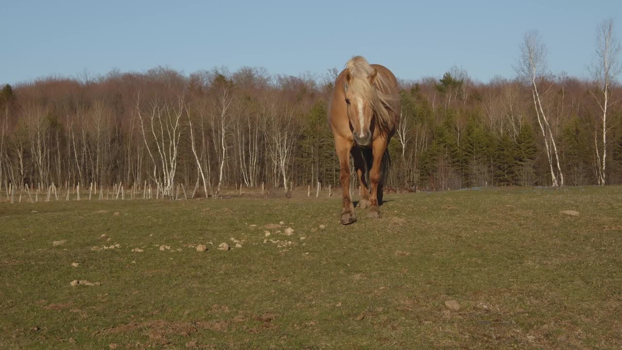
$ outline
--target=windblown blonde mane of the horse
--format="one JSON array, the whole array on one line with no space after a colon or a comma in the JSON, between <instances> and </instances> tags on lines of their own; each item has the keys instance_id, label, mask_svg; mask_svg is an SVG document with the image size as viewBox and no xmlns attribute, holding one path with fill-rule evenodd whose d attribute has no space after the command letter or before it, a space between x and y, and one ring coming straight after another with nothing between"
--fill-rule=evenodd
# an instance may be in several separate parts
<instances>
[{"instance_id":1,"label":"windblown blonde mane of the horse","mask_svg":"<svg viewBox=\"0 0 622 350\"><path fill-rule=\"evenodd\" d=\"M346 63L346 69L350 70L351 74L350 83L347 87L348 91L369 102L376 114L377 125L382 131L388 132L389 125L393 121L389 111L393 111L391 102L395 98L385 93L389 86L385 77L378 72L373 85L369 83L368 77L374 69L362 56L352 57Z\"/></svg>"}]
</instances>

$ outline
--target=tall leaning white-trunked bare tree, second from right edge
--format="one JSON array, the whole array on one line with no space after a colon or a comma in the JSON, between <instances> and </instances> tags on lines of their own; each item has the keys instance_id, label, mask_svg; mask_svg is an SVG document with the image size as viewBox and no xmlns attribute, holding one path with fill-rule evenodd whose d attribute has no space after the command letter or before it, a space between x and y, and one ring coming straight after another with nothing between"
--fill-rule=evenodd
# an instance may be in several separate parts
<instances>
[{"instance_id":1,"label":"tall leaning white-trunked bare tree, second from right edge","mask_svg":"<svg viewBox=\"0 0 622 350\"><path fill-rule=\"evenodd\" d=\"M523 78L529 82L529 85L531 85L531 93L534 100L534 108L536 109L537 121L540 126L540 130L542 131L542 138L544 138L547 159L549 160L552 185L564 186L564 174L562 173L562 169L559 165L557 144L555 143L555 137L553 131L551 130L547 113L545 113L544 108L542 108L542 98L546 95L547 90L544 92L538 90L538 85L545 82L544 77L546 72L547 54L546 45L542 44L538 31L530 31L524 35L520 49L521 57L517 62L518 65L514 67L514 69L516 69L519 77ZM555 171L553 169L553 161L557 163L557 175L555 175Z\"/></svg>"}]
</instances>

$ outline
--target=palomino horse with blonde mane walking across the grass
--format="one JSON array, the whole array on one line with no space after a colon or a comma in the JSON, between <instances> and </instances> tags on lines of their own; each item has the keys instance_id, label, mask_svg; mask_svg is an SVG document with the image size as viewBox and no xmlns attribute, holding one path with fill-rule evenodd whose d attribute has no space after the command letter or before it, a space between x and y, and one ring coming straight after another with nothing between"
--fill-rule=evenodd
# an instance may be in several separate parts
<instances>
[{"instance_id":1,"label":"palomino horse with blonde mane walking across the grass","mask_svg":"<svg viewBox=\"0 0 622 350\"><path fill-rule=\"evenodd\" d=\"M370 65L361 56L346 63L328 102L328 124L335 137L343 189L341 224L356 221L350 198L350 154L361 185L359 207L369 207L368 217L380 217L378 202L383 199L389 162L386 148L399 123L400 110L397 79L390 70Z\"/></svg>"}]
</instances>

